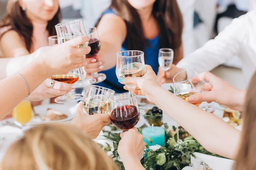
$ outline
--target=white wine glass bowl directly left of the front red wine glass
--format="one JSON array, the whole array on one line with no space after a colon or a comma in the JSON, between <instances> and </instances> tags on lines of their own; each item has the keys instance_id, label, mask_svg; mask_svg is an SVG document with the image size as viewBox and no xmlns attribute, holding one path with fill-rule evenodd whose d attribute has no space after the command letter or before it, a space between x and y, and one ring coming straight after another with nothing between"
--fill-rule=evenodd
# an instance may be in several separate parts
<instances>
[{"instance_id":1,"label":"white wine glass bowl directly left of the front red wine glass","mask_svg":"<svg viewBox=\"0 0 256 170\"><path fill-rule=\"evenodd\" d=\"M86 89L83 101L83 111L88 115L109 114L111 112L110 99L115 91L97 85L90 85Z\"/></svg>"}]
</instances>

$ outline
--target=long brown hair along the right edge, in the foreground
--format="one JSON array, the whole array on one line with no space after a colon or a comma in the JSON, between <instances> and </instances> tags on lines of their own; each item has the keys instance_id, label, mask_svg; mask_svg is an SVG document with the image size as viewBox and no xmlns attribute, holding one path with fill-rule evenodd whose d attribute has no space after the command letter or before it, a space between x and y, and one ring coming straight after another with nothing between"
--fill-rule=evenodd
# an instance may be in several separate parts
<instances>
[{"instance_id":1,"label":"long brown hair along the right edge, in the foreground","mask_svg":"<svg viewBox=\"0 0 256 170\"><path fill-rule=\"evenodd\" d=\"M256 169L256 73L247 89L241 144L236 156L234 170Z\"/></svg>"}]
</instances>

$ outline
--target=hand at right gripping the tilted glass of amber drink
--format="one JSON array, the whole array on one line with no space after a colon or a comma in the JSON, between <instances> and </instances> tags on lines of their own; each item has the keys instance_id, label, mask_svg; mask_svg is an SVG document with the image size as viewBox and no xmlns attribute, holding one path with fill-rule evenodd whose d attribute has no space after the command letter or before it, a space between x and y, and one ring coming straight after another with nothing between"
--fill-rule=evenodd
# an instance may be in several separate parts
<instances>
[{"instance_id":1,"label":"hand at right gripping the tilted glass of amber drink","mask_svg":"<svg viewBox=\"0 0 256 170\"><path fill-rule=\"evenodd\" d=\"M188 101L190 103L216 102L231 109L242 111L245 91L234 88L209 72L201 73L199 76L209 82L207 85L211 91L189 96Z\"/></svg>"}]
</instances>

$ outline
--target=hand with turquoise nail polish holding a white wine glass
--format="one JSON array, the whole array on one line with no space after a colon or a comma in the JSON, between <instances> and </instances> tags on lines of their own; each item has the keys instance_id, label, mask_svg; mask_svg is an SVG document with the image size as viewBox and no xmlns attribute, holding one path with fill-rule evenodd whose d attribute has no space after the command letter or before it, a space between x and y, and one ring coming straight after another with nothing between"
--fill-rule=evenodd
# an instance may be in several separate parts
<instances>
[{"instance_id":1,"label":"hand with turquoise nail polish holding a white wine glass","mask_svg":"<svg viewBox=\"0 0 256 170\"><path fill-rule=\"evenodd\" d=\"M135 93L137 95L146 95L149 102L152 102L151 100L151 94L154 92L154 88L161 87L160 84L157 81L157 76L152 70L150 65L145 65L146 68L146 74L143 77L127 77L121 82L122 84L133 84L137 85L135 88L135 91L132 91L132 93ZM127 86L124 87L125 90L128 90ZM138 91L139 90L139 91ZM140 91L141 90L141 91Z\"/></svg>"}]
</instances>

